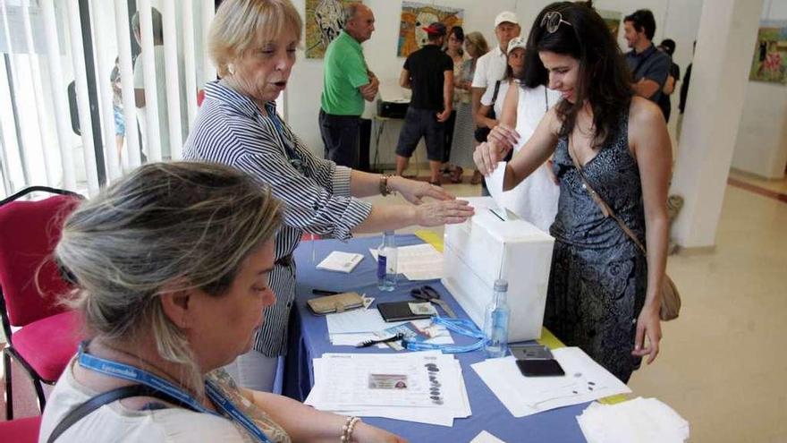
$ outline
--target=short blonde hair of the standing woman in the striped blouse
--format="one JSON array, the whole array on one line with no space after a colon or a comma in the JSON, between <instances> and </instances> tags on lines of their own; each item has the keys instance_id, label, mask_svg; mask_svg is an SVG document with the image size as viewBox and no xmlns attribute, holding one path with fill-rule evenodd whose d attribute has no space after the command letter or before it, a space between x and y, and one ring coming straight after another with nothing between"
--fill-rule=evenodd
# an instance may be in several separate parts
<instances>
[{"instance_id":1,"label":"short blonde hair of the standing woman in the striped blouse","mask_svg":"<svg viewBox=\"0 0 787 443\"><path fill-rule=\"evenodd\" d=\"M292 30L300 42L303 22L290 0L224 0L210 23L207 51L220 76L263 42Z\"/></svg>"}]
</instances>

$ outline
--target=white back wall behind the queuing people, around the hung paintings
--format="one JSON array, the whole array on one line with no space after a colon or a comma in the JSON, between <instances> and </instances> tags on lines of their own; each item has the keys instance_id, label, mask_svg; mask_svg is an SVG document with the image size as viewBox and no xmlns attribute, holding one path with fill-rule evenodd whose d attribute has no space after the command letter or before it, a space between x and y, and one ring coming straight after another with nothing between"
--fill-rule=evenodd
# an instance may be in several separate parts
<instances>
[{"instance_id":1,"label":"white back wall behind the queuing people, around the hung paintings","mask_svg":"<svg viewBox=\"0 0 787 443\"><path fill-rule=\"evenodd\" d=\"M301 14L305 11L305 0L293 0L292 3ZM549 0L485 0L483 2L478 0L425 0L422 3L463 8L464 23L462 26L465 32L478 30L484 34L489 44L494 46L497 44L494 32L497 13L506 10L516 12L522 25L522 35L527 35L537 13L552 2ZM365 0L364 4L372 9L377 19L375 33L363 45L369 68L377 73L381 81L396 81L404 63L403 58L396 56L402 2L399 0ZM599 0L594 4L599 9L621 12L623 16L639 8L650 9L656 16L656 37L654 39L659 42L664 37L673 38L677 42L675 62L681 65L681 70L685 70L691 57L691 43L696 38L702 0ZM622 49L627 50L622 37L622 27L618 37ZM319 156L323 154L323 143L320 140L317 126L322 83L322 59L307 59L304 52L299 51L298 63L292 70L290 83L285 91L285 118L292 125L295 133ZM676 108L677 94L674 97L673 106ZM374 115L374 109L374 104L367 104L365 116ZM676 114L675 110L673 115ZM390 159L393 158L391 151L395 146L400 127L401 121L392 121L386 124L380 143L383 151L381 153L382 163L390 163ZM372 143L374 144L374 141ZM418 158L418 152L416 156Z\"/></svg>"}]
</instances>

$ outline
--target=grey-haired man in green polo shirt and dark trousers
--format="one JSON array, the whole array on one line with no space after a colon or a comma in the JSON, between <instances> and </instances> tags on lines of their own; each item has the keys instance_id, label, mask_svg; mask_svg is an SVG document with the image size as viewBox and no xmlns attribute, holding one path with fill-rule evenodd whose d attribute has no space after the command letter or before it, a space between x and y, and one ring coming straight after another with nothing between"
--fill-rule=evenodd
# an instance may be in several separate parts
<instances>
[{"instance_id":1,"label":"grey-haired man in green polo shirt and dark trousers","mask_svg":"<svg viewBox=\"0 0 787 443\"><path fill-rule=\"evenodd\" d=\"M319 126L326 158L337 165L358 167L363 100L374 100L380 84L369 71L360 44L374 30L371 9L350 4L344 8L344 29L326 50Z\"/></svg>"}]
</instances>

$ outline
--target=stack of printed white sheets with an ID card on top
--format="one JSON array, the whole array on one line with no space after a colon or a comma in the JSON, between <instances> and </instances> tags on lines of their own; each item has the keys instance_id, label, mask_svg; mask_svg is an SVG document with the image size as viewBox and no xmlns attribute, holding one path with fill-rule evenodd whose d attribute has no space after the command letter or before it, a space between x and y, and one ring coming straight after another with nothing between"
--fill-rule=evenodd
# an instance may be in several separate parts
<instances>
[{"instance_id":1,"label":"stack of printed white sheets with an ID card on top","mask_svg":"<svg viewBox=\"0 0 787 443\"><path fill-rule=\"evenodd\" d=\"M439 351L323 354L304 402L320 411L453 426L470 416L461 366Z\"/></svg>"}]
</instances>

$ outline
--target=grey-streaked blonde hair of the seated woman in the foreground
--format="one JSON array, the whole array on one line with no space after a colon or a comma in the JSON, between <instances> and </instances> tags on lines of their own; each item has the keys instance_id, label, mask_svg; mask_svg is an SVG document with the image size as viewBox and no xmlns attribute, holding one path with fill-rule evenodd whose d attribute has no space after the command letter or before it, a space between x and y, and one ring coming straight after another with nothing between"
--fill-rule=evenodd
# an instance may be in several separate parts
<instances>
[{"instance_id":1,"label":"grey-streaked blonde hair of the seated woman in the foreground","mask_svg":"<svg viewBox=\"0 0 787 443\"><path fill-rule=\"evenodd\" d=\"M221 297L243 260L274 239L281 210L267 188L227 166L140 166L66 219L55 248L76 282L66 302L93 337L152 335L158 354L189 368L182 382L202 395L190 345L159 295L199 288Z\"/></svg>"}]
</instances>

